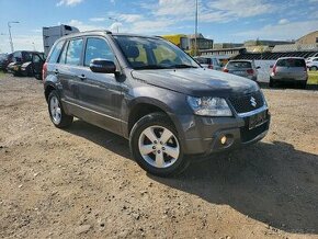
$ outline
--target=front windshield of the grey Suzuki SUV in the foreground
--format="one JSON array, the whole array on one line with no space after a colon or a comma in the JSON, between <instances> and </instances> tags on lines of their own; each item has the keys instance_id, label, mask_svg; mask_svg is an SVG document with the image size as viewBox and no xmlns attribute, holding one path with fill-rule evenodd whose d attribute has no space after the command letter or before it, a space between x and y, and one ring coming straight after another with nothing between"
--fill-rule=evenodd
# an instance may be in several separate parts
<instances>
[{"instance_id":1,"label":"front windshield of the grey Suzuki SUV in the foreground","mask_svg":"<svg viewBox=\"0 0 318 239\"><path fill-rule=\"evenodd\" d=\"M184 52L160 38L114 36L134 69L200 68Z\"/></svg>"}]
</instances>

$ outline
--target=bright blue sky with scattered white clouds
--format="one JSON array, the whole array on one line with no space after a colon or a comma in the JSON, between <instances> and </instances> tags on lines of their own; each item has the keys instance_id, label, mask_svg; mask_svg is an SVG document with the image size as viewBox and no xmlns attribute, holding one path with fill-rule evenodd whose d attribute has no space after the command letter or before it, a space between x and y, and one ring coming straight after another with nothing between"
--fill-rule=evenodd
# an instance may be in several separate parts
<instances>
[{"instance_id":1,"label":"bright blue sky with scattered white clouds","mask_svg":"<svg viewBox=\"0 0 318 239\"><path fill-rule=\"evenodd\" d=\"M195 0L0 0L0 53L43 52L42 27L70 24L162 35L194 32ZM116 18L113 22L109 18ZM318 30L318 0L198 0L198 32L215 42L296 39Z\"/></svg>"}]
</instances>

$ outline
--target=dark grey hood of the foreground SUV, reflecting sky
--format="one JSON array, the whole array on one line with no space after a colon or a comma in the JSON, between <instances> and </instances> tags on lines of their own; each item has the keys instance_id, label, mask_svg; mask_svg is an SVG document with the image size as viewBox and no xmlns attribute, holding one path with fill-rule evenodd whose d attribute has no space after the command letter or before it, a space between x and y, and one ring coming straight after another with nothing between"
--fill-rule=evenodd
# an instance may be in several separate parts
<instances>
[{"instance_id":1,"label":"dark grey hood of the foreground SUV, reflecting sky","mask_svg":"<svg viewBox=\"0 0 318 239\"><path fill-rule=\"evenodd\" d=\"M209 69L133 70L132 76L148 84L193 96L229 96L259 90L255 82Z\"/></svg>"}]
</instances>

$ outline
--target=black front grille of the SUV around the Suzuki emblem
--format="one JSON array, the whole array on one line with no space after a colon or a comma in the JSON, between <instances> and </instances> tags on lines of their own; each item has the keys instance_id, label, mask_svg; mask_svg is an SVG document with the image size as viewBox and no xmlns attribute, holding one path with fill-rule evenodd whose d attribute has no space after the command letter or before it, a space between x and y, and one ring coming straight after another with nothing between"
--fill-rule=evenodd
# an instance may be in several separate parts
<instances>
[{"instance_id":1,"label":"black front grille of the SUV around the Suzuki emblem","mask_svg":"<svg viewBox=\"0 0 318 239\"><path fill-rule=\"evenodd\" d=\"M254 99L255 106L252 105L251 99ZM246 113L264 105L264 99L261 91L245 94L242 96L229 98L230 104L234 106L237 113Z\"/></svg>"}]
</instances>

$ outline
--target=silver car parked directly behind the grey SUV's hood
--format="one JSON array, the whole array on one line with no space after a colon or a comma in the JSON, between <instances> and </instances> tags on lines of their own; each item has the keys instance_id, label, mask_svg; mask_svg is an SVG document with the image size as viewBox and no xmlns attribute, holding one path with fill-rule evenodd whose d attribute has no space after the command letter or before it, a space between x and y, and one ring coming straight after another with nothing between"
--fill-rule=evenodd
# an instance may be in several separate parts
<instances>
[{"instance_id":1,"label":"silver car parked directly behind the grey SUV's hood","mask_svg":"<svg viewBox=\"0 0 318 239\"><path fill-rule=\"evenodd\" d=\"M229 60L223 71L257 81L259 68L253 60Z\"/></svg>"}]
</instances>

